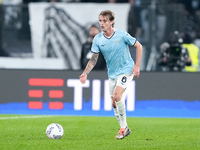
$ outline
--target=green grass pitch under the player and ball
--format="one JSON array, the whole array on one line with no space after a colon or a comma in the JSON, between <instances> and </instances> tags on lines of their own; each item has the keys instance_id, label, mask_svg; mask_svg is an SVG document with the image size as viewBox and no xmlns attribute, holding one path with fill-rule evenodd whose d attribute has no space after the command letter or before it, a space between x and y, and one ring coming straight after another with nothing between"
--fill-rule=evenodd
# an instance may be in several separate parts
<instances>
[{"instance_id":1,"label":"green grass pitch under the player and ball","mask_svg":"<svg viewBox=\"0 0 200 150\"><path fill-rule=\"evenodd\" d=\"M48 139L50 123L64 128ZM115 117L0 115L0 150L200 150L200 119L128 117L131 135L116 140Z\"/></svg>"}]
</instances>

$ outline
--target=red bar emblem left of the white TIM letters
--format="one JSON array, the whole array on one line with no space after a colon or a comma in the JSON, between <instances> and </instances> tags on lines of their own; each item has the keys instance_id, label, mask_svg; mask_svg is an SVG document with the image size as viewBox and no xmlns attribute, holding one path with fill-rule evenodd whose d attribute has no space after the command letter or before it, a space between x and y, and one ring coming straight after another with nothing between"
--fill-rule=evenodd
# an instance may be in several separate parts
<instances>
[{"instance_id":1,"label":"red bar emblem left of the white TIM letters","mask_svg":"<svg viewBox=\"0 0 200 150\"><path fill-rule=\"evenodd\" d=\"M64 80L63 79L43 79L43 78L30 78L29 86L33 87L33 89L30 89L28 91L28 96L30 98L43 98L43 90L37 89L35 90L34 87L63 87ZM63 98L64 92L62 90L49 90L48 91L49 98ZM43 102L40 100L38 101L30 101L28 103L29 109L42 109L43 108ZM49 102L48 104L49 109L63 109L63 103L62 102Z\"/></svg>"}]
</instances>

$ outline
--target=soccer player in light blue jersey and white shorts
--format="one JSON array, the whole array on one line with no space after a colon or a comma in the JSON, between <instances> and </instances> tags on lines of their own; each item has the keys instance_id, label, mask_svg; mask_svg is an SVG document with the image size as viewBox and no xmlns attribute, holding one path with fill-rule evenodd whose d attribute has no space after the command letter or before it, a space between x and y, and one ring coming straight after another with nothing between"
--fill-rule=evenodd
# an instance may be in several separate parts
<instances>
[{"instance_id":1,"label":"soccer player in light blue jersey and white shorts","mask_svg":"<svg viewBox=\"0 0 200 150\"><path fill-rule=\"evenodd\" d=\"M97 62L99 52L102 52L108 69L112 106L120 125L116 139L123 139L131 133L131 130L126 121L125 102L121 99L128 83L140 75L142 45L127 32L115 29L114 20L115 15L110 10L99 14L102 32L95 36L91 47L92 58L79 78L82 84L85 83L88 74ZM131 58L129 45L136 47L136 63Z\"/></svg>"}]
</instances>

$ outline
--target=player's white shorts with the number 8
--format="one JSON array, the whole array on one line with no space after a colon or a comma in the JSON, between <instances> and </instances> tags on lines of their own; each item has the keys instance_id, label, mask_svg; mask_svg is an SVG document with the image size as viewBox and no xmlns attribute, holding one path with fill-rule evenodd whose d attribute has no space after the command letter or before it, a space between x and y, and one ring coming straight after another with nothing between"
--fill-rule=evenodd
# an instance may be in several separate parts
<instances>
[{"instance_id":1,"label":"player's white shorts with the number 8","mask_svg":"<svg viewBox=\"0 0 200 150\"><path fill-rule=\"evenodd\" d=\"M118 76L116 79L109 79L109 91L110 91L110 96L113 96L114 90L116 86L120 86L124 89L127 88L128 84L132 81L133 79L133 74L128 75L128 74L122 74Z\"/></svg>"}]
</instances>

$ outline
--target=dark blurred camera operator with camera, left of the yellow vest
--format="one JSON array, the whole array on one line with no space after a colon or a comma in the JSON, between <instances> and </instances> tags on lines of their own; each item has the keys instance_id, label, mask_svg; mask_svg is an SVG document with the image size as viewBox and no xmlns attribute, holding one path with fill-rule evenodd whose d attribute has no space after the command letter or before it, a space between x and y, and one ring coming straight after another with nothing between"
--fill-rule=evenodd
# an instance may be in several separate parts
<instances>
[{"instance_id":1,"label":"dark blurred camera operator with camera, left of the yellow vest","mask_svg":"<svg viewBox=\"0 0 200 150\"><path fill-rule=\"evenodd\" d=\"M158 64L162 71L183 71L185 66L191 65L191 59L183 39L178 31L170 33L168 41L160 46L161 56Z\"/></svg>"}]
</instances>

